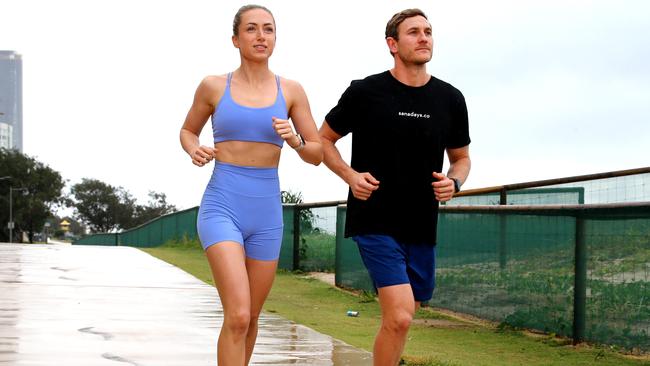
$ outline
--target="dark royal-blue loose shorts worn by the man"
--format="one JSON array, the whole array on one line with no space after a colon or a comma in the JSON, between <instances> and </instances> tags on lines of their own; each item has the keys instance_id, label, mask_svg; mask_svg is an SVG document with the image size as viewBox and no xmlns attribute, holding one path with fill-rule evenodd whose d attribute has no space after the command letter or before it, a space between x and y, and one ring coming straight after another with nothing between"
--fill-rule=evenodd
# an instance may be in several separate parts
<instances>
[{"instance_id":1,"label":"dark royal-blue loose shorts worn by the man","mask_svg":"<svg viewBox=\"0 0 650 366\"><path fill-rule=\"evenodd\" d=\"M436 247L398 243L388 235L358 235L361 259L376 288L409 283L415 301L427 301L436 285Z\"/></svg>"}]
</instances>

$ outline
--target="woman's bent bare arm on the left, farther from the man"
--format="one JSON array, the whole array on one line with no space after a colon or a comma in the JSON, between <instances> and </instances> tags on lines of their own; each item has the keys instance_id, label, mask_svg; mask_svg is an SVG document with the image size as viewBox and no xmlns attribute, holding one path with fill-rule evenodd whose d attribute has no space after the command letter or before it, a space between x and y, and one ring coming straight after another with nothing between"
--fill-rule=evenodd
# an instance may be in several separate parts
<instances>
[{"instance_id":1,"label":"woman's bent bare arm on the left, farther from the man","mask_svg":"<svg viewBox=\"0 0 650 366\"><path fill-rule=\"evenodd\" d=\"M208 76L201 81L194 94L194 101L183 127L181 127L180 139L183 150L192 158L196 166L204 166L215 157L216 149L212 146L204 146L199 142L199 135L208 118L214 111L215 101L223 92L220 90L219 78Z\"/></svg>"}]
</instances>

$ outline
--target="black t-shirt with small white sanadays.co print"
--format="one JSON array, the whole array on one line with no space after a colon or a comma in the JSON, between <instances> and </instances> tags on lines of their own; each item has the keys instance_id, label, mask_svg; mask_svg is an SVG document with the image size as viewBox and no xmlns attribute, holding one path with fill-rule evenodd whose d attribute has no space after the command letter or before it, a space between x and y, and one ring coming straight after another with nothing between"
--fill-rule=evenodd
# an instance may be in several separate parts
<instances>
[{"instance_id":1,"label":"black t-shirt with small white sanadays.co print","mask_svg":"<svg viewBox=\"0 0 650 366\"><path fill-rule=\"evenodd\" d=\"M367 201L349 191L345 236L435 245L432 173L441 172L445 149L470 143L461 92L433 76L411 87L386 71L353 81L325 120L341 136L352 133L352 168L380 182Z\"/></svg>"}]
</instances>

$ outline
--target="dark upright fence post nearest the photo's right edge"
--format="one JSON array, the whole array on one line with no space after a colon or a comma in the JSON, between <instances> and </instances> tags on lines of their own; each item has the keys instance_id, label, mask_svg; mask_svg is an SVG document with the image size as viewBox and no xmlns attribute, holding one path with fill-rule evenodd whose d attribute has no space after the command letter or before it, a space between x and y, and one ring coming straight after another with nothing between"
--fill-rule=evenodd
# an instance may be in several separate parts
<instances>
[{"instance_id":1,"label":"dark upright fence post nearest the photo's right edge","mask_svg":"<svg viewBox=\"0 0 650 366\"><path fill-rule=\"evenodd\" d=\"M585 339L585 312L587 302L587 246L585 244L585 222L581 214L576 215L574 278L573 344L578 344Z\"/></svg>"}]
</instances>

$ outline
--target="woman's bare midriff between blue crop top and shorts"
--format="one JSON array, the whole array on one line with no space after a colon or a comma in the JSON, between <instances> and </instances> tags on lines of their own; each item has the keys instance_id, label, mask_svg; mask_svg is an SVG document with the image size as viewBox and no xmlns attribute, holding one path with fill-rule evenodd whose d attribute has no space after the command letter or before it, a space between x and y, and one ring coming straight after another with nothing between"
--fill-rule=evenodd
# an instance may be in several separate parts
<instances>
[{"instance_id":1,"label":"woman's bare midriff between blue crop top and shorts","mask_svg":"<svg viewBox=\"0 0 650 366\"><path fill-rule=\"evenodd\" d=\"M222 163L276 168L280 162L280 147L266 142L223 141L214 147Z\"/></svg>"}]
</instances>

